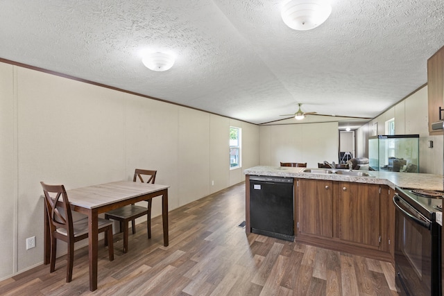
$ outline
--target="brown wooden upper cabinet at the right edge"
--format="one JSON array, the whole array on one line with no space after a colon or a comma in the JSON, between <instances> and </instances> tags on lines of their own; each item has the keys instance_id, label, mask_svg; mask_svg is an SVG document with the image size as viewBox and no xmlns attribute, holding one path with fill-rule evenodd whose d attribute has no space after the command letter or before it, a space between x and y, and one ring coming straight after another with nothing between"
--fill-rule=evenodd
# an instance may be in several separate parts
<instances>
[{"instance_id":1,"label":"brown wooden upper cabinet at the right edge","mask_svg":"<svg viewBox=\"0 0 444 296\"><path fill-rule=\"evenodd\" d=\"M444 47L427 60L427 93L429 134L443 134L443 131L433 131L432 123L439 121L439 107L444 108Z\"/></svg>"}]
</instances>

